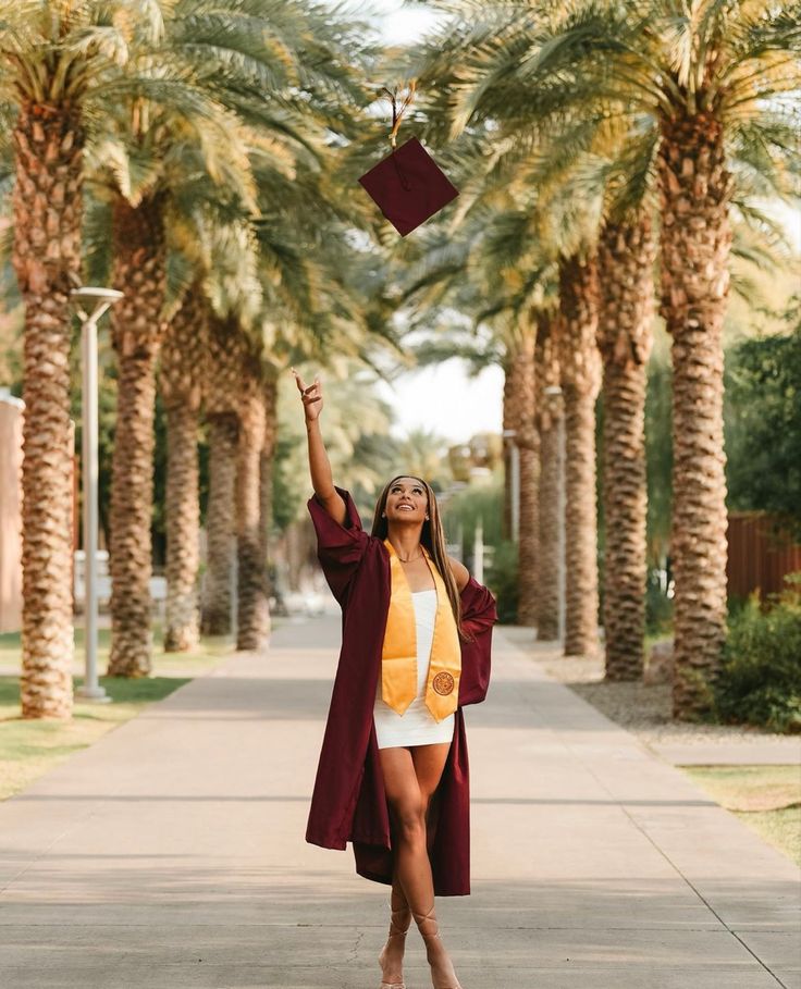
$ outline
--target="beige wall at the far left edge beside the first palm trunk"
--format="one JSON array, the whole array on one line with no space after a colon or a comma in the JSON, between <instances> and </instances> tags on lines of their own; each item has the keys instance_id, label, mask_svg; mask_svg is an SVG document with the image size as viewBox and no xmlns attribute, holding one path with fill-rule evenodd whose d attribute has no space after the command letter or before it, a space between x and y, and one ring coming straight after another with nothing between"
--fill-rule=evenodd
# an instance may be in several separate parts
<instances>
[{"instance_id":1,"label":"beige wall at the far left edge beside the first palm trunk","mask_svg":"<svg viewBox=\"0 0 801 989\"><path fill-rule=\"evenodd\" d=\"M0 632L15 632L22 617L22 410L0 397Z\"/></svg>"}]
</instances>

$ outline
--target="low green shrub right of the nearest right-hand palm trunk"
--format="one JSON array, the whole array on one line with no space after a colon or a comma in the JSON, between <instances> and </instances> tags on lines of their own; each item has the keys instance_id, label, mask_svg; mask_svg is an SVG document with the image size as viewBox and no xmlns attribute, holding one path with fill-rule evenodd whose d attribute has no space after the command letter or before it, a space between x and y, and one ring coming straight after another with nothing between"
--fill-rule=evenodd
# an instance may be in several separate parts
<instances>
[{"instance_id":1,"label":"low green shrub right of the nearest right-hand palm trunk","mask_svg":"<svg viewBox=\"0 0 801 989\"><path fill-rule=\"evenodd\" d=\"M729 621L715 707L725 722L801 732L801 574L761 609L754 594Z\"/></svg>"}]
</instances>

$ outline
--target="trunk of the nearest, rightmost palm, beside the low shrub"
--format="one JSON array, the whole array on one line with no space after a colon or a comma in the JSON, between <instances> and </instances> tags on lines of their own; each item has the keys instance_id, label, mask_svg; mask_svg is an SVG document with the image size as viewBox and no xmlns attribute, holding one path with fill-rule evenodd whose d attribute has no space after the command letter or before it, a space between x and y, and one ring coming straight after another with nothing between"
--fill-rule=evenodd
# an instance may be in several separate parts
<instances>
[{"instance_id":1,"label":"trunk of the nearest, rightmost palm, beside the low shrub","mask_svg":"<svg viewBox=\"0 0 801 989\"><path fill-rule=\"evenodd\" d=\"M711 113L662 124L661 311L673 337L673 713L712 704L726 639L723 322L728 296L731 177Z\"/></svg>"}]
</instances>

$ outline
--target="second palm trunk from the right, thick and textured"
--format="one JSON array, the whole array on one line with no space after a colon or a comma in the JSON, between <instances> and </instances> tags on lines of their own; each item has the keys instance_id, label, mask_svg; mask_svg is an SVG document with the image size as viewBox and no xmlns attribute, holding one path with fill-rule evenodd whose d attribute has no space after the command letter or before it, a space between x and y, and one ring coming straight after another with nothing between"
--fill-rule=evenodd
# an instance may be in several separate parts
<instances>
[{"instance_id":1,"label":"second palm trunk from the right, thick and textured","mask_svg":"<svg viewBox=\"0 0 801 989\"><path fill-rule=\"evenodd\" d=\"M646 214L601 235L605 676L639 680L645 634L645 387L654 243Z\"/></svg>"}]
</instances>

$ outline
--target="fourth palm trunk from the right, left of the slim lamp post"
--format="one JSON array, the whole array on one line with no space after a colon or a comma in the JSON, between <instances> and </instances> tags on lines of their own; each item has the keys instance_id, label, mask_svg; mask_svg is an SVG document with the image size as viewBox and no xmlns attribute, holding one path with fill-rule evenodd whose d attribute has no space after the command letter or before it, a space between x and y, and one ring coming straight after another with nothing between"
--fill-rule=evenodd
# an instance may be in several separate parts
<instances>
[{"instance_id":1,"label":"fourth palm trunk from the right, left of the slim lamp post","mask_svg":"<svg viewBox=\"0 0 801 989\"><path fill-rule=\"evenodd\" d=\"M559 638L559 573L563 563L562 533L565 527L562 495L565 472L562 436L564 409L562 393L555 391L559 386L556 327L557 319L543 314L537 339L537 410L540 426L537 638L541 642L553 642Z\"/></svg>"}]
</instances>

